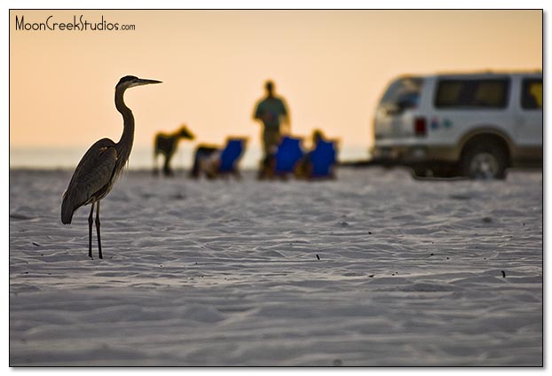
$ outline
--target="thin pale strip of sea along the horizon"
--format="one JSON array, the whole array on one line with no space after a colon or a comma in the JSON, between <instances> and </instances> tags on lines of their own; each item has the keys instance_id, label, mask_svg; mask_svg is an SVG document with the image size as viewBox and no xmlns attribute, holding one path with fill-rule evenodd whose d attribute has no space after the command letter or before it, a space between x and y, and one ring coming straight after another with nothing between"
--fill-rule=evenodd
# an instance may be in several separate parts
<instances>
[{"instance_id":1,"label":"thin pale strip of sea along the horizon","mask_svg":"<svg viewBox=\"0 0 552 376\"><path fill-rule=\"evenodd\" d=\"M10 168L75 168L87 148L28 148L10 147ZM339 150L340 161L366 160L368 147L348 147ZM241 159L241 168L256 168L262 151L260 147L248 147ZM173 168L191 168L193 146L182 145L173 157ZM162 165L162 157L157 161ZM129 168L152 168L153 151L150 147L136 146L130 154Z\"/></svg>"}]
</instances>

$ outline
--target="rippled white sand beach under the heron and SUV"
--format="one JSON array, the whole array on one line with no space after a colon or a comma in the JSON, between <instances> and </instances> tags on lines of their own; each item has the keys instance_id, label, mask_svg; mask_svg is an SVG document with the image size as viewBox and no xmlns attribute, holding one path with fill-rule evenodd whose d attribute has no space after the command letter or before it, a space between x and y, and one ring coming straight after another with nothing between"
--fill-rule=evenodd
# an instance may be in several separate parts
<instances>
[{"instance_id":1,"label":"rippled white sand beach under the heron and SUV","mask_svg":"<svg viewBox=\"0 0 552 376\"><path fill-rule=\"evenodd\" d=\"M69 170L10 172L10 365L543 364L542 174L419 181L126 171L60 222Z\"/></svg>"}]
</instances>

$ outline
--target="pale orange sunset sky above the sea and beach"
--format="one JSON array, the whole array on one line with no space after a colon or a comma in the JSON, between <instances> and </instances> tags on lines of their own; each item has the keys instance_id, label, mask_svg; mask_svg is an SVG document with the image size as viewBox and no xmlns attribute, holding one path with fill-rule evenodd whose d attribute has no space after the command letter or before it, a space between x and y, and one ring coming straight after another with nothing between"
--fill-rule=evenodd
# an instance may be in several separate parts
<instances>
[{"instance_id":1,"label":"pale orange sunset sky above the sea and beach","mask_svg":"<svg viewBox=\"0 0 552 376\"><path fill-rule=\"evenodd\" d=\"M133 24L134 31L20 31L73 16ZM161 80L125 96L135 145L185 122L197 142L228 135L260 145L251 115L271 78L292 133L314 128L342 147L372 143L377 101L400 74L535 70L540 11L12 11L10 144L82 146L118 141L114 85L126 74Z\"/></svg>"}]
</instances>

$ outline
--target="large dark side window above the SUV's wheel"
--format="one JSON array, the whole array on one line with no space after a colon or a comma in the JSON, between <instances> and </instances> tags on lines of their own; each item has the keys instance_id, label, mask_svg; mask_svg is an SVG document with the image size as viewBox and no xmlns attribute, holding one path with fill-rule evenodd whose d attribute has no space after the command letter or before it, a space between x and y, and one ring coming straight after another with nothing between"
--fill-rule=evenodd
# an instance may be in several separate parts
<instances>
[{"instance_id":1,"label":"large dark side window above the SUV's wheel","mask_svg":"<svg viewBox=\"0 0 552 376\"><path fill-rule=\"evenodd\" d=\"M437 108L503 108L506 107L509 79L441 80L438 82Z\"/></svg>"}]
</instances>

